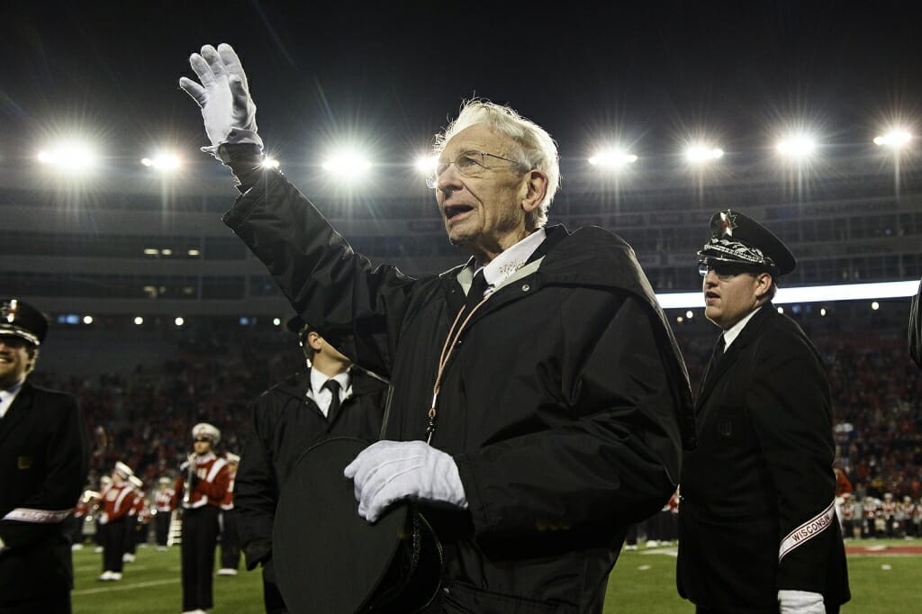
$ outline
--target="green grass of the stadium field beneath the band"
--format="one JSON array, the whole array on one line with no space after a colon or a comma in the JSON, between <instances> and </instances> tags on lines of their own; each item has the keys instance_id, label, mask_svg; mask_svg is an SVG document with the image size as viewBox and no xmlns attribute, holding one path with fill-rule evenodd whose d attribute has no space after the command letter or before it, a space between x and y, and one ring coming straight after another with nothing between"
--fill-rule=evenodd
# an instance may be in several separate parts
<instances>
[{"instance_id":1,"label":"green grass of the stadium field beneath the band","mask_svg":"<svg viewBox=\"0 0 922 614\"><path fill-rule=\"evenodd\" d=\"M852 542L856 543L856 542ZM862 542L857 542L862 543ZM868 542L864 542L868 543ZM875 545L906 546L918 542L879 540ZM99 582L101 554L93 549L74 552L75 614L147 614L182 611L179 548L158 552L139 548L135 562L125 563L124 579ZM609 581L606 614L691 614L691 605L675 588L675 549L656 548L621 552ZM849 556L852 600L844 612L892 614L919 611L922 601L922 556ZM215 614L262 611L262 584L258 572L215 577ZM335 613L323 613L335 614Z\"/></svg>"}]
</instances>

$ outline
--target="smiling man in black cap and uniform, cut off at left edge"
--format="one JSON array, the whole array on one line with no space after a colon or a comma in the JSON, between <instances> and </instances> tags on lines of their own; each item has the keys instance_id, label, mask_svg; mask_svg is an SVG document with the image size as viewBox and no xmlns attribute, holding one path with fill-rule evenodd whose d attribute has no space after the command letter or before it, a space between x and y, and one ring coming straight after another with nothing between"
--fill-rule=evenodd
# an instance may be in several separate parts
<instances>
[{"instance_id":1,"label":"smiling man in black cap and uniform, cut off at left edge","mask_svg":"<svg viewBox=\"0 0 922 614\"><path fill-rule=\"evenodd\" d=\"M74 584L65 519L89 466L77 400L29 383L48 320L0 299L0 612L69 612Z\"/></svg>"}]
</instances>

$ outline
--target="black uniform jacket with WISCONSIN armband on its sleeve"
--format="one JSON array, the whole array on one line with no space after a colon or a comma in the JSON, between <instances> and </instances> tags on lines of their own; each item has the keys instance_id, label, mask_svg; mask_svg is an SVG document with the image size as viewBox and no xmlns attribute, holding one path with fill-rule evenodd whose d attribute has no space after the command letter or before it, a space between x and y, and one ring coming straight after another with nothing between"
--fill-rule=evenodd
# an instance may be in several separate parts
<instances>
[{"instance_id":1,"label":"black uniform jacket with WISCONSIN armband on its sleeve","mask_svg":"<svg viewBox=\"0 0 922 614\"><path fill-rule=\"evenodd\" d=\"M709 366L685 455L680 595L727 612L777 612L778 589L849 598L835 498L829 382L810 339L768 303ZM779 561L796 528L812 536ZM822 528L825 526L825 528ZM822 530L817 531L818 528Z\"/></svg>"}]
</instances>

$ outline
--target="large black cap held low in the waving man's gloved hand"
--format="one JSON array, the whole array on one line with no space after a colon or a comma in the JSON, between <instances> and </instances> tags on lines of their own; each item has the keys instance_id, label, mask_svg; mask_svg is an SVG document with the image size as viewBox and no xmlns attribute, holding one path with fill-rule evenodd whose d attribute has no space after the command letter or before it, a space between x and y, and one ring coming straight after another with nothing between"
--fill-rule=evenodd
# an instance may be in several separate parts
<instances>
[{"instance_id":1,"label":"large black cap held low in the waving man's gloved hand","mask_svg":"<svg viewBox=\"0 0 922 614\"><path fill-rule=\"evenodd\" d=\"M281 490L272 558L292 612L386 612L425 608L439 588L442 547L411 502L373 525L359 515L343 469L369 445L327 439L301 454Z\"/></svg>"}]
</instances>

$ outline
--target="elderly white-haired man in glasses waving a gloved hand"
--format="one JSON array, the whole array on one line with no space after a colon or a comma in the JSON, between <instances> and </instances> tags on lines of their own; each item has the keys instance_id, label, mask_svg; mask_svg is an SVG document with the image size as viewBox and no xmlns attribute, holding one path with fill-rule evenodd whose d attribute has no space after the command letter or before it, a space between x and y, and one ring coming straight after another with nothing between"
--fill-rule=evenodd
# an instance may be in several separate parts
<instances>
[{"instance_id":1,"label":"elderly white-haired man in glasses waving a gloved hand","mask_svg":"<svg viewBox=\"0 0 922 614\"><path fill-rule=\"evenodd\" d=\"M278 171L229 45L190 62L211 147L241 182L224 221L301 317L388 377L384 441L345 469L369 522L419 502L443 545L431 611L601 612L625 531L678 483L691 393L630 246L545 228L557 149L513 110L467 103L431 178L442 275L372 268Z\"/></svg>"}]
</instances>

